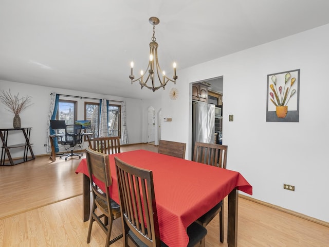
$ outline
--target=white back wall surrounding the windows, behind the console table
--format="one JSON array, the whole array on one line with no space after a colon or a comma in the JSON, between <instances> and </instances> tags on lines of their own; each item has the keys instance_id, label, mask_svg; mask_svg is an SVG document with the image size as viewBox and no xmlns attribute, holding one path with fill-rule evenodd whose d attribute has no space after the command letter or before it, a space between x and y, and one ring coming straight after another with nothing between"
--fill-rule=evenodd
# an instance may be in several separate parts
<instances>
[{"instance_id":1,"label":"white back wall surrounding the windows, behind the console table","mask_svg":"<svg viewBox=\"0 0 329 247\"><path fill-rule=\"evenodd\" d=\"M29 85L23 83L16 83L11 81L0 80L0 90L9 91L12 95L20 94L21 97L29 95L31 96L31 102L33 103L31 107L24 110L21 114L22 128L32 127L30 143L33 143L32 149L35 155L46 154L46 147L44 144L48 142L49 137L47 136L47 119L50 107L50 93L55 92L58 94L65 95L75 95L75 96L85 96L91 98L106 98L112 100L126 101L126 116L127 116L127 132L129 143L142 143L144 137L142 136L143 131L143 108L144 102L141 99L131 99L131 98L121 98L109 95L98 95L86 92L71 91L56 89L46 86ZM64 99L64 97L61 97ZM78 119L84 119L84 102L93 102L95 100L90 99L79 99L79 98L65 98L69 100L78 101ZM98 102L97 100L95 102ZM148 100L148 104L152 104L152 101ZM0 128L13 128L13 117L12 112L6 111L4 104L0 103ZM146 116L147 118L147 116ZM11 136L8 138L10 144L16 144L25 142L22 133L10 133ZM83 148L87 147L87 143L84 144ZM63 147L60 147L63 151ZM13 157L23 156L21 149L11 149L11 154Z\"/></svg>"}]
</instances>

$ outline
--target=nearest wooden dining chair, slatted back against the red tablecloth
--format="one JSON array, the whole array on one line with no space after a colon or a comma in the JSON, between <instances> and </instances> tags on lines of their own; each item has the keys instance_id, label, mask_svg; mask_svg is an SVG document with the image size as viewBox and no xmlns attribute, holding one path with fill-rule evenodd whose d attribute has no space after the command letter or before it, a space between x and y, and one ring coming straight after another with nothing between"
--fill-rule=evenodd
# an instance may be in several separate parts
<instances>
[{"instance_id":1,"label":"nearest wooden dining chair, slatted back against the red tablecloth","mask_svg":"<svg viewBox=\"0 0 329 247\"><path fill-rule=\"evenodd\" d=\"M160 240L151 170L131 166L115 157L120 209L123 227L123 246L167 246ZM193 222L187 228L188 246L200 246L207 230Z\"/></svg>"}]
</instances>

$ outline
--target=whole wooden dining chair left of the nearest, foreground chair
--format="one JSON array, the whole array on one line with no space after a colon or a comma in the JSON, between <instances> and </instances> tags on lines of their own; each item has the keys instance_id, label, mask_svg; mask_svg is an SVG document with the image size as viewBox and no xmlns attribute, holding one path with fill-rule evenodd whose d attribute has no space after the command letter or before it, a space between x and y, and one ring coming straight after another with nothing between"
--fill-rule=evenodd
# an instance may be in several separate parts
<instances>
[{"instance_id":1,"label":"whole wooden dining chair left of the nearest, foreground chair","mask_svg":"<svg viewBox=\"0 0 329 247\"><path fill-rule=\"evenodd\" d=\"M90 185L93 192L93 207L90 216L87 243L90 242L93 222L96 221L106 233L105 247L122 238L122 234L111 240L113 221L121 216L120 206L111 199L108 187L112 185L111 173L109 170L108 155L96 152L90 148L85 149L87 166L89 171ZM105 184L105 191L102 191L94 179ZM102 222L104 218L104 223Z\"/></svg>"}]
</instances>

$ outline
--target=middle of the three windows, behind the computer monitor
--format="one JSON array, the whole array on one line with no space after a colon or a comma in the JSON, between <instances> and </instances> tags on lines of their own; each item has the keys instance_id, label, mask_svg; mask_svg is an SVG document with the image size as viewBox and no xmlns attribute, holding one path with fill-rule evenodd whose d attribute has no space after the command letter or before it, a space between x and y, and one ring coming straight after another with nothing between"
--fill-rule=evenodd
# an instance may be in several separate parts
<instances>
[{"instance_id":1,"label":"middle of the three windows, behind the computer monitor","mask_svg":"<svg viewBox=\"0 0 329 247\"><path fill-rule=\"evenodd\" d=\"M85 133L93 133L90 139L98 137L99 103L84 102L84 120L90 120L91 122L90 129L85 129Z\"/></svg>"}]
</instances>

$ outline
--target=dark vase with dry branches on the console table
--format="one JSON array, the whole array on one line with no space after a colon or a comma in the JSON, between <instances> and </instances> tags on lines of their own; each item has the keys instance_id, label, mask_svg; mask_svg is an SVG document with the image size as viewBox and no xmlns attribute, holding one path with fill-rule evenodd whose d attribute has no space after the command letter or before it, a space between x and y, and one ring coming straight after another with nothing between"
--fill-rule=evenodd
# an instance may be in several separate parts
<instances>
[{"instance_id":1,"label":"dark vase with dry branches on the console table","mask_svg":"<svg viewBox=\"0 0 329 247\"><path fill-rule=\"evenodd\" d=\"M15 129L21 128L21 118L20 113L28 108L31 103L31 96L20 97L20 93L17 95L12 95L10 90L5 92L4 90L0 91L0 100L6 105L6 110L15 114L13 127Z\"/></svg>"}]
</instances>

